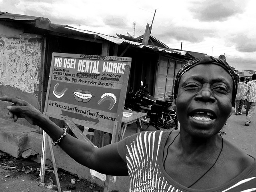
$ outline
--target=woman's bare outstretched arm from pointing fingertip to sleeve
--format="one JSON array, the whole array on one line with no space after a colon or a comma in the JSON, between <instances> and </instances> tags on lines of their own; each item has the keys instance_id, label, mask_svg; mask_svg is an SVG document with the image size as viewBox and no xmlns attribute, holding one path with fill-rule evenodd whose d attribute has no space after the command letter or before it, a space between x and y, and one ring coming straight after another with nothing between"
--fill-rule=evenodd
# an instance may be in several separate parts
<instances>
[{"instance_id":1,"label":"woman's bare outstretched arm from pointing fingertip to sleeve","mask_svg":"<svg viewBox=\"0 0 256 192\"><path fill-rule=\"evenodd\" d=\"M0 97L0 100L13 103L7 106L7 109L9 117L14 122L18 118L25 118L30 124L42 128L54 141L57 141L64 133L62 128L54 124L28 102L14 97ZM128 175L126 163L118 154L117 143L95 148L66 134L58 145L76 162L90 169L107 175Z\"/></svg>"}]
</instances>

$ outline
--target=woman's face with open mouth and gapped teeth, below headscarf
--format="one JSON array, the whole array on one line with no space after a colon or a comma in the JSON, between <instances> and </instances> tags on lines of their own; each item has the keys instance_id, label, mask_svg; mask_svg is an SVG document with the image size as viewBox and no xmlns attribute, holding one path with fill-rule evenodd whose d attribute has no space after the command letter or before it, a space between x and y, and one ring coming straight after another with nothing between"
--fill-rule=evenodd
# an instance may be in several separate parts
<instances>
[{"instance_id":1,"label":"woman's face with open mouth and gapped teeth, below headscarf","mask_svg":"<svg viewBox=\"0 0 256 192\"><path fill-rule=\"evenodd\" d=\"M231 76L214 64L199 64L181 77L173 102L181 130L209 138L218 133L232 114Z\"/></svg>"}]
</instances>

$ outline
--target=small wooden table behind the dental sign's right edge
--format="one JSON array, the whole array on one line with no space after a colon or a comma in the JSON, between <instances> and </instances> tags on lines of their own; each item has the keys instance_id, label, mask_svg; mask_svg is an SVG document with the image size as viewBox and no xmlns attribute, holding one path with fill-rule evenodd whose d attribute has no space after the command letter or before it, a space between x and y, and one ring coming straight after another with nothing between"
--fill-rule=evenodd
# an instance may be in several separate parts
<instances>
[{"instance_id":1,"label":"small wooden table behind the dental sign's right edge","mask_svg":"<svg viewBox=\"0 0 256 192\"><path fill-rule=\"evenodd\" d=\"M124 133L126 131L126 127L129 124L137 122L136 133L140 132L140 129L142 128L142 126L141 126L141 119L144 116L147 115L146 113L141 113L141 112L137 112L137 111L130 111L130 110L126 110L126 109L124 109L124 112L132 113L132 115L129 116L129 117L124 117L123 116L123 118L122 118L122 125L121 125L120 132L119 132L120 140L122 140L124 138Z\"/></svg>"}]
</instances>

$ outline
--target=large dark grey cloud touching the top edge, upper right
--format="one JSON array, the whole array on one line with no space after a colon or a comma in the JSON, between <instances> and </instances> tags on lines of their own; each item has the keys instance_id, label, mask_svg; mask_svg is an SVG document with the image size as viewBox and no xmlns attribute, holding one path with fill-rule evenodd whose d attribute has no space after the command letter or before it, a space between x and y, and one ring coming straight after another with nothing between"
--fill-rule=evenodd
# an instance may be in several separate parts
<instances>
[{"instance_id":1,"label":"large dark grey cloud touching the top edge, upper right","mask_svg":"<svg viewBox=\"0 0 256 192\"><path fill-rule=\"evenodd\" d=\"M194 19L201 22L225 21L236 14L242 14L247 0L204 0L194 1L189 10Z\"/></svg>"}]
</instances>

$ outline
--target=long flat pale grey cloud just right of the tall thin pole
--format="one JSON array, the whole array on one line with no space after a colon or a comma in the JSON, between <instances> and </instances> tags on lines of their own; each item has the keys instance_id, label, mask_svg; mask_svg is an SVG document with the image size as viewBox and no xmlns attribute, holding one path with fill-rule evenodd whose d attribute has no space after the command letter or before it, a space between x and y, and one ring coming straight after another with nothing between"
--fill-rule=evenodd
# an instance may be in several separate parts
<instances>
[{"instance_id":1,"label":"long flat pale grey cloud just right of the tall thin pole","mask_svg":"<svg viewBox=\"0 0 256 192\"><path fill-rule=\"evenodd\" d=\"M216 36L214 30L188 28L184 26L171 26L168 28L156 28L158 34L156 38L161 39L163 42L169 41L170 39L176 39L178 41L188 41L192 43L199 43L204 41L204 38Z\"/></svg>"}]
</instances>

